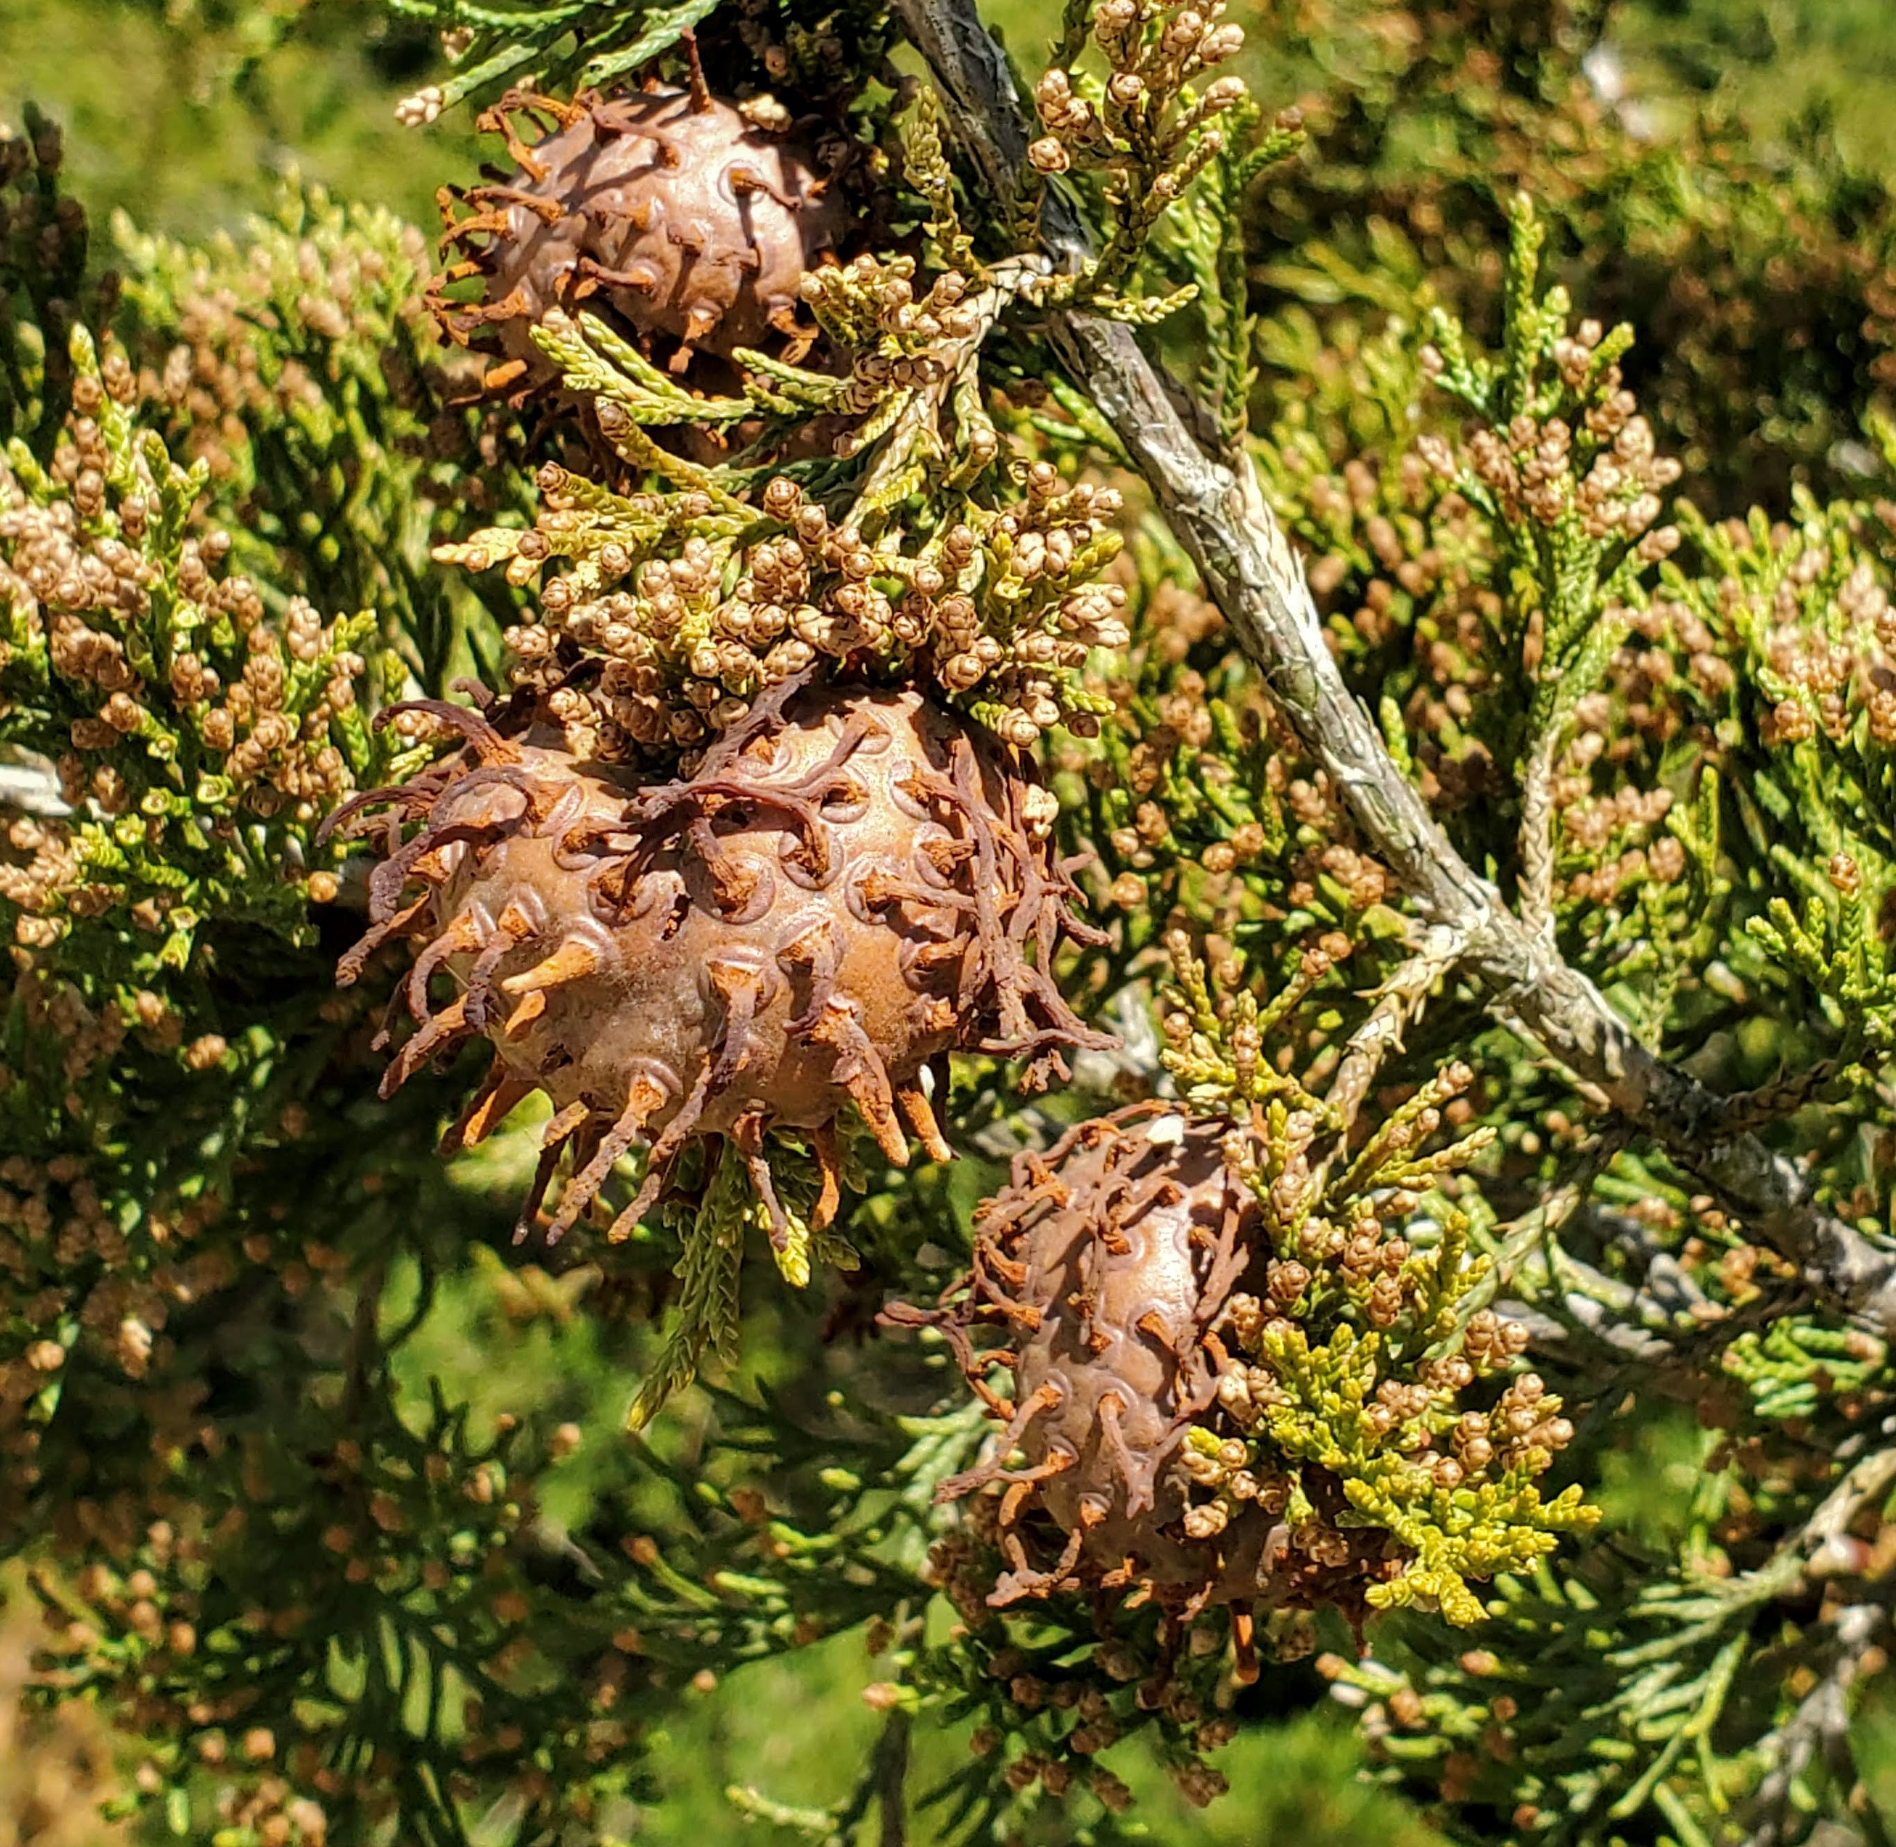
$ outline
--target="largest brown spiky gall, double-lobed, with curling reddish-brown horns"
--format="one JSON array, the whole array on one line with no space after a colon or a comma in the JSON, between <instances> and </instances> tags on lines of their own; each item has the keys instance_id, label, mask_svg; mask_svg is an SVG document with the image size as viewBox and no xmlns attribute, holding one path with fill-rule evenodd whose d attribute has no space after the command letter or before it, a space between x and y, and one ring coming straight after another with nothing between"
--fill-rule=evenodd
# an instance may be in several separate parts
<instances>
[{"instance_id":1,"label":"largest brown spiky gall, double-lobed, with curling reddish-brown horns","mask_svg":"<svg viewBox=\"0 0 1896 1847\"><path fill-rule=\"evenodd\" d=\"M1109 1043L1052 977L1066 941L1098 937L1075 916L1047 791L1024 759L916 692L785 683L696 776L647 787L574 760L550 728L504 736L480 711L406 709L465 745L337 812L332 825L383 838L370 929L339 978L392 937L415 944L398 996L415 1030L385 1094L432 1056L491 1041L449 1147L548 1094L521 1227L563 1161L548 1238L643 1147L645 1181L611 1225L624 1236L684 1147L720 1136L781 1242L766 1132L815 1153L821 1229L846 1109L889 1161L908 1161L910 1136L940 1159L929 1092L946 1094L948 1052L1022 1058L1037 1085L1062 1071L1062 1047Z\"/></svg>"}]
</instances>

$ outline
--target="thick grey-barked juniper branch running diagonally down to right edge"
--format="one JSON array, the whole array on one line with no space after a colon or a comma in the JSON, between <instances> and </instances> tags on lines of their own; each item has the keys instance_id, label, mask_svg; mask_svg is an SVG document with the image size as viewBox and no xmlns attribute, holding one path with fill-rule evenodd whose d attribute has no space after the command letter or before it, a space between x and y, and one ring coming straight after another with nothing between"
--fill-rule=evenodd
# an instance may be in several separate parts
<instances>
[{"instance_id":1,"label":"thick grey-barked juniper branch running diagonally down to right edge","mask_svg":"<svg viewBox=\"0 0 1896 1847\"><path fill-rule=\"evenodd\" d=\"M1028 127L1005 53L973 0L897 0L897 13L935 74L967 157L1009 209ZM1041 229L1064 267L1090 254L1077 212L1052 186ZM1490 1011L1564 1066L1591 1102L1659 1142L1759 1240L1796 1263L1818 1301L1896 1335L1896 1253L1813 1206L1792 1161L1727 1123L1720 1096L1640 1045L1606 996L1449 844L1371 713L1344 685L1303 569L1249 461L1215 453L1212 421L1145 357L1128 326L1069 311L1050 317L1048 334L1062 366L1145 476L1206 594L1369 846L1424 916L1460 939L1462 967L1488 990Z\"/></svg>"}]
</instances>

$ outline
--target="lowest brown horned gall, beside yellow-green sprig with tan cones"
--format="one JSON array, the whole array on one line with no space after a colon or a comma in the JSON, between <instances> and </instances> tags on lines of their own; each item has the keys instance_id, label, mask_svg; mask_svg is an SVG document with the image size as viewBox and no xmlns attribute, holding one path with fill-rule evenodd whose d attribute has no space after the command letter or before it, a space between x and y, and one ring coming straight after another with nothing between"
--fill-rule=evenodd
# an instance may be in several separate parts
<instances>
[{"instance_id":1,"label":"lowest brown horned gall, beside yellow-green sprig with tan cones","mask_svg":"<svg viewBox=\"0 0 1896 1847\"><path fill-rule=\"evenodd\" d=\"M980 1212L975 1267L950 1307L897 1305L887 1318L940 1327L1005 1420L992 1458L940 1490L1001 1490L1009 1568L990 1602L1139 1587L1187 1619L1229 1604L1249 1676L1253 1608L1333 1600L1365 1561L1303 1555L1268 1494L1217 1530L1193 1517L1189 1439L1215 1411L1231 1365L1219 1326L1263 1242L1225 1134L1141 1104L1020 1155ZM995 1326L999 1354L971 1339ZM1009 1396L986 1384L997 1358L1012 1369ZM1306 1475L1342 1511L1340 1490Z\"/></svg>"}]
</instances>

